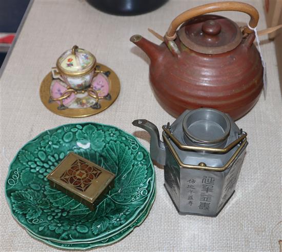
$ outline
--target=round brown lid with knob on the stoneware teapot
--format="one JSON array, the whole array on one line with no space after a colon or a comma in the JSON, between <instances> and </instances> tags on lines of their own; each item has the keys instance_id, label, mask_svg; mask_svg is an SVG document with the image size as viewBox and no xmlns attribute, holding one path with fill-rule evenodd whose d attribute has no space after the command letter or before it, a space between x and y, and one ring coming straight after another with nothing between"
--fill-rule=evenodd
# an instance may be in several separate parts
<instances>
[{"instance_id":1,"label":"round brown lid with knob on the stoneware teapot","mask_svg":"<svg viewBox=\"0 0 282 252\"><path fill-rule=\"evenodd\" d=\"M237 24L218 15L194 17L179 29L178 35L189 49L205 54L231 51L242 40Z\"/></svg>"}]
</instances>

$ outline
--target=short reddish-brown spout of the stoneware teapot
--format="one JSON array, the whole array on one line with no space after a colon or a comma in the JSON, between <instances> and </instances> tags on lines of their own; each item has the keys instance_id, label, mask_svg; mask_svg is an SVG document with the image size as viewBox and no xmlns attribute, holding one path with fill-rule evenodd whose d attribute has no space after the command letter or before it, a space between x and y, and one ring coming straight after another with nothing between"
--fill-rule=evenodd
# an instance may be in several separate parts
<instances>
[{"instance_id":1,"label":"short reddish-brown spout of the stoneware teapot","mask_svg":"<svg viewBox=\"0 0 282 252\"><path fill-rule=\"evenodd\" d=\"M136 34L131 36L130 41L142 49L150 58L151 62L157 61L163 54L162 47L146 40L146 38L141 35Z\"/></svg>"}]
</instances>

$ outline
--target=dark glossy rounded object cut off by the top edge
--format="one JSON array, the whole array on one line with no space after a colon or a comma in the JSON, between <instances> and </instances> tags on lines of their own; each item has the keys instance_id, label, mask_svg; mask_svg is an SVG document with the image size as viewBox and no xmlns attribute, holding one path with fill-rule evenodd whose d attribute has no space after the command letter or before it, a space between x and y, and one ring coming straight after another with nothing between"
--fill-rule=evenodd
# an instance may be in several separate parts
<instances>
[{"instance_id":1,"label":"dark glossy rounded object cut off by the top edge","mask_svg":"<svg viewBox=\"0 0 282 252\"><path fill-rule=\"evenodd\" d=\"M96 9L114 15L130 16L153 11L168 0L87 0Z\"/></svg>"}]
</instances>

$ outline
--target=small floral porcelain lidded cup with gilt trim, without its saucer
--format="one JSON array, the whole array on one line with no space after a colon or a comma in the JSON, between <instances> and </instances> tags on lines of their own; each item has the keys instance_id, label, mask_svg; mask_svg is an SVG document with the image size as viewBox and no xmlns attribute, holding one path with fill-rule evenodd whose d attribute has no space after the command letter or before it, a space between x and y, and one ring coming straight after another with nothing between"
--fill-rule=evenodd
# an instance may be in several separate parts
<instances>
[{"instance_id":1,"label":"small floral porcelain lidded cup with gilt trim, without its saucer","mask_svg":"<svg viewBox=\"0 0 282 252\"><path fill-rule=\"evenodd\" d=\"M96 58L91 52L73 46L59 56L56 67L52 68L52 75L74 90L84 90L98 72L95 67Z\"/></svg>"}]
</instances>

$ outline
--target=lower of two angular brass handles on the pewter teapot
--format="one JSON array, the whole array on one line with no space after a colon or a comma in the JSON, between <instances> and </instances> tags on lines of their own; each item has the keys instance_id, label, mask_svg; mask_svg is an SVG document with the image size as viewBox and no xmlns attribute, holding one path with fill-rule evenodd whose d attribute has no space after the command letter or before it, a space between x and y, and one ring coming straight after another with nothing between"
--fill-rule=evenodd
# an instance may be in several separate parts
<instances>
[{"instance_id":1,"label":"lower of two angular brass handles on the pewter teapot","mask_svg":"<svg viewBox=\"0 0 282 252\"><path fill-rule=\"evenodd\" d=\"M238 156L238 154L243 149L243 147L247 144L247 139L245 138L245 140L241 143L240 147L234 152L232 157L227 161L227 163L224 166L221 166L221 167L211 167L211 166L184 164L181 161L181 159L179 158L177 152L175 151L175 149L173 148L173 146L171 145L171 143L169 142L168 138L166 137L166 135L164 133L163 133L163 138L164 138L165 143L168 145L172 155L174 156L174 158L176 159L177 163L181 167L189 168L189 169L198 169L198 170L211 170L211 171L224 171L224 170L226 170L230 166L230 164L232 164L232 162L235 160L235 158Z\"/></svg>"}]
</instances>

